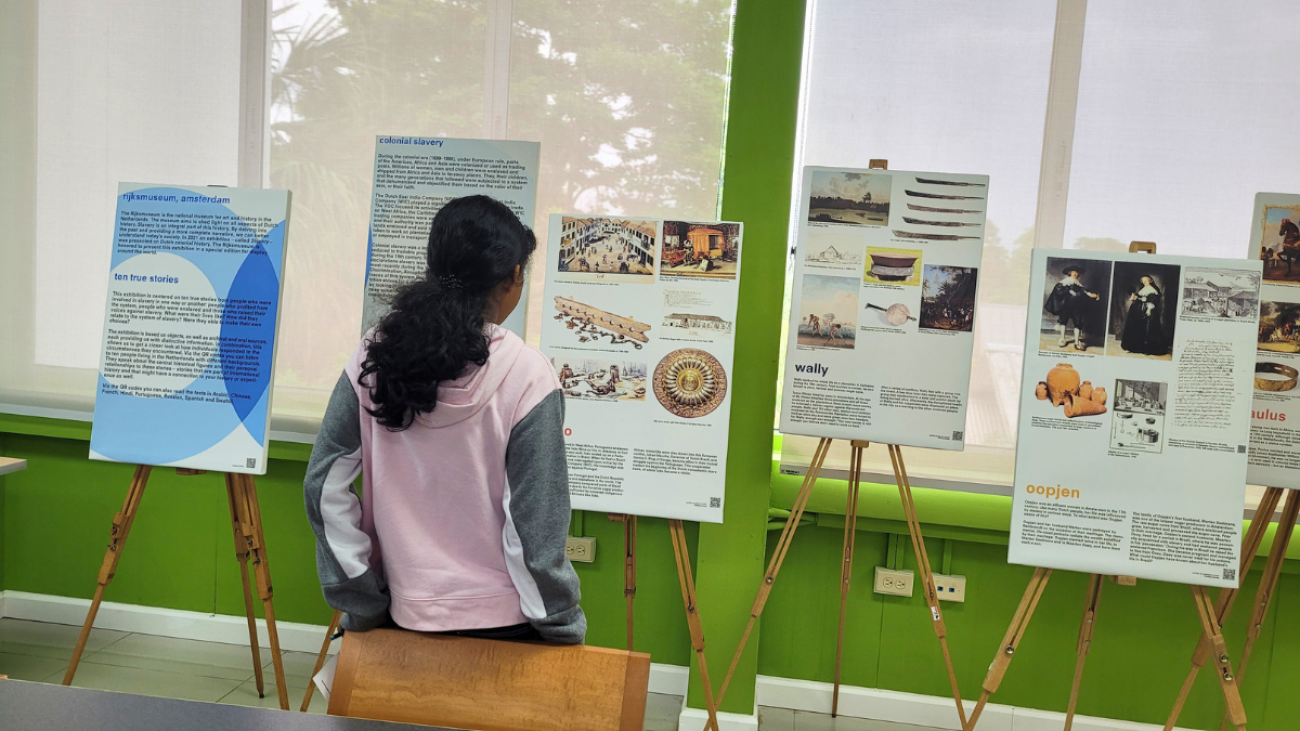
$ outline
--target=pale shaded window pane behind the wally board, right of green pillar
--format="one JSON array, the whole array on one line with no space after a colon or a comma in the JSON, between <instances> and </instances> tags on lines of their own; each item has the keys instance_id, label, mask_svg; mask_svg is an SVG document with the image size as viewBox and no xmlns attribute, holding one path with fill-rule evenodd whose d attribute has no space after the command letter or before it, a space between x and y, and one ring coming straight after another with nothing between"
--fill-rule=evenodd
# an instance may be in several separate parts
<instances>
[{"instance_id":1,"label":"pale shaded window pane behind the wally board, right of green pillar","mask_svg":"<svg viewBox=\"0 0 1300 731\"><path fill-rule=\"evenodd\" d=\"M872 157L989 176L966 451L909 454L916 484L1009 481L1056 4L823 0L809 20L796 187L803 165ZM814 446L785 437L783 463L806 464ZM848 468L848 445L836 447L832 472ZM884 450L867 462L892 481Z\"/></svg>"}]
</instances>

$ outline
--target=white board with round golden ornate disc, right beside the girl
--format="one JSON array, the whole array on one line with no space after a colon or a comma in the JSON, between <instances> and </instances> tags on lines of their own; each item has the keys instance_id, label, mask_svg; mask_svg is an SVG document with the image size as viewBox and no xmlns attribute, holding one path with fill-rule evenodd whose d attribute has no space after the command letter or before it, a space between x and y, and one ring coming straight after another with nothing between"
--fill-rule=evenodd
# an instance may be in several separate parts
<instances>
[{"instance_id":1,"label":"white board with round golden ornate disc, right beside the girl","mask_svg":"<svg viewBox=\"0 0 1300 731\"><path fill-rule=\"evenodd\" d=\"M722 523L742 233L551 216L541 347L576 510Z\"/></svg>"}]
</instances>

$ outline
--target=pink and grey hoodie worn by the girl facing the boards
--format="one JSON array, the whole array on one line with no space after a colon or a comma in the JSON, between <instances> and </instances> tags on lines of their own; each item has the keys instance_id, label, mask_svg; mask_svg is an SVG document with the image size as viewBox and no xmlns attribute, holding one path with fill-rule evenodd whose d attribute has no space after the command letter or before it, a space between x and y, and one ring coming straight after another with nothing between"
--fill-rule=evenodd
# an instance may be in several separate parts
<instances>
[{"instance_id":1,"label":"pink and grey hoodie worn by the girl facing the boards","mask_svg":"<svg viewBox=\"0 0 1300 731\"><path fill-rule=\"evenodd\" d=\"M546 358L493 325L488 363L391 432L358 385L361 345L334 386L304 484L325 601L346 630L393 620L442 632L530 623L581 643L564 554L564 399ZM363 476L361 496L352 489Z\"/></svg>"}]
</instances>

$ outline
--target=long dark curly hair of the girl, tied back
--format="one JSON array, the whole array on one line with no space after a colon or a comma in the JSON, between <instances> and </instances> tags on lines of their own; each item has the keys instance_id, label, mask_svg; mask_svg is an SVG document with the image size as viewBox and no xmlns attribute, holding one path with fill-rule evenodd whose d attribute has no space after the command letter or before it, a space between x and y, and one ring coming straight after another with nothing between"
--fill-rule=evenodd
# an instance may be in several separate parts
<instances>
[{"instance_id":1,"label":"long dark curly hair of the girl, tied back","mask_svg":"<svg viewBox=\"0 0 1300 731\"><path fill-rule=\"evenodd\" d=\"M533 232L499 200L469 195L433 217L422 278L396 291L367 345L358 385L380 424L399 432L438 405L438 385L488 363L493 291L523 272Z\"/></svg>"}]
</instances>

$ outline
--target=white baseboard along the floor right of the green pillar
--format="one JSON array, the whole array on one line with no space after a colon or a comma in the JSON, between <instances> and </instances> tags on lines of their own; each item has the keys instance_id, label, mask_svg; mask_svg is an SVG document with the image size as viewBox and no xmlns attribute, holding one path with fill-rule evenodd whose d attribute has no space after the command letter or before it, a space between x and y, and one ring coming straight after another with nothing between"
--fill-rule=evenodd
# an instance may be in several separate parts
<instances>
[{"instance_id":1,"label":"white baseboard along the floor right of the green pillar","mask_svg":"<svg viewBox=\"0 0 1300 731\"><path fill-rule=\"evenodd\" d=\"M759 675L755 687L755 700L760 706L831 713L831 695L835 685L816 680L794 680ZM963 704L966 713L975 708L975 701ZM923 696L879 688L858 688L840 685L840 715L889 721L911 726L930 726L961 731L953 700L946 696ZM720 721L720 719L719 719ZM1001 704L988 704L980 714L980 731L1060 731L1065 724L1065 714L1049 710L1017 708ZM682 726L682 731L685 731ZM1134 723L1091 715L1075 715L1075 731L1160 731L1162 726L1153 723ZM1178 727L1175 731L1188 731Z\"/></svg>"}]
</instances>

